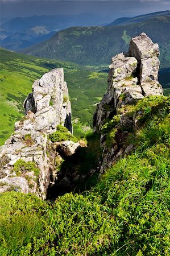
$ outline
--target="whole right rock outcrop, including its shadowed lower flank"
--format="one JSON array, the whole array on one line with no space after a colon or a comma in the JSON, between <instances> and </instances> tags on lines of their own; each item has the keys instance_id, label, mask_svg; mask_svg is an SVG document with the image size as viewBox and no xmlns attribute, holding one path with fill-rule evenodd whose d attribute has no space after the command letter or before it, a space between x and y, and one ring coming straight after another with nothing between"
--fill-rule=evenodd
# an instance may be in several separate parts
<instances>
[{"instance_id":1,"label":"whole right rock outcrop, including its shadowed lower flank","mask_svg":"<svg viewBox=\"0 0 170 256\"><path fill-rule=\"evenodd\" d=\"M101 146L103 146L104 167L111 166L121 154L129 151L132 146L125 148L120 141L128 134L129 127L135 127L136 119L128 118L121 109L126 105L135 104L138 100L150 95L162 95L163 88L158 81L159 46L154 44L145 33L131 39L127 53L119 53L111 59L109 66L107 93L97 106L94 114L93 130L101 132L106 122L119 119L124 131L118 132L115 124L115 143L113 147L106 146L106 135L102 132ZM118 115L119 114L119 115Z\"/></svg>"}]
</instances>

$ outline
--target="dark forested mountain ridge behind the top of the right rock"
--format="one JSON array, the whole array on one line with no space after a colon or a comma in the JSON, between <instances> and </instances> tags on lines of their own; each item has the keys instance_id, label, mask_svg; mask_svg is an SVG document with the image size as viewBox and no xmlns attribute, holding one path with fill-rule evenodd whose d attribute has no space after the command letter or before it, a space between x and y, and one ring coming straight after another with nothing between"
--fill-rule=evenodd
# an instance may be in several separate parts
<instances>
[{"instance_id":1,"label":"dark forested mountain ridge behind the top of the right rock","mask_svg":"<svg viewBox=\"0 0 170 256\"><path fill-rule=\"evenodd\" d=\"M128 50L132 36L145 32L159 44L161 68L167 68L170 66L169 26L170 16L167 15L123 26L72 27L23 52L82 65L108 64L112 56Z\"/></svg>"}]
</instances>

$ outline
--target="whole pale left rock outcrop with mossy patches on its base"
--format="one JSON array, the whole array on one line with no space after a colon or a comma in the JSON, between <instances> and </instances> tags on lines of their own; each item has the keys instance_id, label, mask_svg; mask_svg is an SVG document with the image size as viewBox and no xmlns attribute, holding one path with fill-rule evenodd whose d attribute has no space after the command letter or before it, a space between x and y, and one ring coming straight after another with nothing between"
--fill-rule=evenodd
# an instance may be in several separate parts
<instances>
[{"instance_id":1,"label":"whole pale left rock outcrop with mossy patches on its base","mask_svg":"<svg viewBox=\"0 0 170 256\"><path fill-rule=\"evenodd\" d=\"M45 199L56 158L47 135L60 124L72 132L63 69L36 80L23 105L26 117L15 123L14 134L0 147L0 192L13 188Z\"/></svg>"}]
</instances>

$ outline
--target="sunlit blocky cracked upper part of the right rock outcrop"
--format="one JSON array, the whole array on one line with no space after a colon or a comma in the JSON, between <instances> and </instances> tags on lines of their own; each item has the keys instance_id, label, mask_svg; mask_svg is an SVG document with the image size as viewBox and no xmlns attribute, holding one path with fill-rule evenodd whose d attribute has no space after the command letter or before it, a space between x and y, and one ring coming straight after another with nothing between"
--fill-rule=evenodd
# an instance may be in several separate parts
<instances>
[{"instance_id":1,"label":"sunlit blocky cracked upper part of the right rock outcrop","mask_svg":"<svg viewBox=\"0 0 170 256\"><path fill-rule=\"evenodd\" d=\"M112 57L107 92L94 114L94 131L100 131L105 119L116 114L121 106L146 96L163 95L158 81L158 56L158 44L142 33L131 39L127 53Z\"/></svg>"}]
</instances>

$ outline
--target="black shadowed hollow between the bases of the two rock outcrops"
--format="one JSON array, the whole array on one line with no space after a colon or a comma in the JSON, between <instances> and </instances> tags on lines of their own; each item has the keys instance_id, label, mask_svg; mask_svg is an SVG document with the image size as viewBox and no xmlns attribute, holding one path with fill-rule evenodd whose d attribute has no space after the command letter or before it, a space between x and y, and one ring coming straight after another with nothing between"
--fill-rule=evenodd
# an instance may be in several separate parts
<instances>
[{"instance_id":1,"label":"black shadowed hollow between the bases of the two rock outcrops","mask_svg":"<svg viewBox=\"0 0 170 256\"><path fill-rule=\"evenodd\" d=\"M99 135L96 133L90 136L88 147L80 147L72 156L64 157L55 179L51 175L47 200L55 200L65 193L81 193L96 184L102 150L99 146Z\"/></svg>"}]
</instances>

